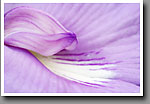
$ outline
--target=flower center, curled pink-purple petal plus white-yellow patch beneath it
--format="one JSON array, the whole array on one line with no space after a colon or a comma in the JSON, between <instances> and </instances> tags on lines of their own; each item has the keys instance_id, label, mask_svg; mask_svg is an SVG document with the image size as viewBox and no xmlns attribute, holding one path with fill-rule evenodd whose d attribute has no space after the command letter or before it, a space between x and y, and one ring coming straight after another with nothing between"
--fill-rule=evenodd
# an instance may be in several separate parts
<instances>
[{"instance_id":1,"label":"flower center, curled pink-purple petal plus white-yellow patch beneath it","mask_svg":"<svg viewBox=\"0 0 150 104\"><path fill-rule=\"evenodd\" d=\"M76 35L65 29L49 14L29 7L18 7L5 14L5 44L29 50L50 71L80 83L106 84L115 74L104 68L115 63L100 64L101 59L77 59L78 55L56 56L61 50L73 50Z\"/></svg>"}]
</instances>

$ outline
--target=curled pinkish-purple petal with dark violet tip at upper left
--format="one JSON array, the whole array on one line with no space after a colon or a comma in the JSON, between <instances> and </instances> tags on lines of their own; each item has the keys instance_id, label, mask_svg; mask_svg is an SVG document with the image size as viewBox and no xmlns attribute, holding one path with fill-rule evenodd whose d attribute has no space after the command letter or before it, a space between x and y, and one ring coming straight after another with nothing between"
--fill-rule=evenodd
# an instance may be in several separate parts
<instances>
[{"instance_id":1,"label":"curled pinkish-purple petal with dark violet tip at upper left","mask_svg":"<svg viewBox=\"0 0 150 104\"><path fill-rule=\"evenodd\" d=\"M19 7L5 14L5 44L25 48L44 56L74 49L77 40L46 13Z\"/></svg>"}]
</instances>

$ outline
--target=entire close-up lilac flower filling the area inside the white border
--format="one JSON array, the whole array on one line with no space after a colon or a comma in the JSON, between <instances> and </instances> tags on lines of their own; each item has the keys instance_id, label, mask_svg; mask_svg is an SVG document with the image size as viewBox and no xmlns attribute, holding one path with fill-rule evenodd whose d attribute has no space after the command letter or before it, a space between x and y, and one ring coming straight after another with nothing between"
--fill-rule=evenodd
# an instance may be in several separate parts
<instances>
[{"instance_id":1,"label":"entire close-up lilac flower filling the area inside the white border","mask_svg":"<svg viewBox=\"0 0 150 104\"><path fill-rule=\"evenodd\" d=\"M136 3L5 4L5 93L139 93Z\"/></svg>"}]
</instances>

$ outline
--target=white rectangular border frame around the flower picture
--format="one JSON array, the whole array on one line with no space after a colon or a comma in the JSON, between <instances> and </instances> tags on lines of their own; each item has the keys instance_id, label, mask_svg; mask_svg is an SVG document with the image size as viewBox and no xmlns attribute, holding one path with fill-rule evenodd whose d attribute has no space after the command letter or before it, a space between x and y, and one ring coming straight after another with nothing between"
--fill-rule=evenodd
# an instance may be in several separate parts
<instances>
[{"instance_id":1,"label":"white rectangular border frame around the flower picture","mask_svg":"<svg viewBox=\"0 0 150 104\"><path fill-rule=\"evenodd\" d=\"M140 3L140 93L4 93L4 3ZM1 96L143 96L143 0L1 0Z\"/></svg>"}]
</instances>

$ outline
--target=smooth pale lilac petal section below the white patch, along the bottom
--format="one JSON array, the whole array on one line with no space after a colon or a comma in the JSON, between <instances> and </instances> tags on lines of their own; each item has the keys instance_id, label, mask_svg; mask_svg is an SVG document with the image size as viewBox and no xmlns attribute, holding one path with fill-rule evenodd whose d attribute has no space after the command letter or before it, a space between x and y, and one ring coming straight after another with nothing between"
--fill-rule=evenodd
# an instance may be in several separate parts
<instances>
[{"instance_id":1,"label":"smooth pale lilac petal section below the white patch, along the bottom","mask_svg":"<svg viewBox=\"0 0 150 104\"><path fill-rule=\"evenodd\" d=\"M20 58L21 57L21 58ZM5 93L127 93L139 92L139 87L121 80L106 86L92 87L67 80L47 70L26 50L5 46Z\"/></svg>"}]
</instances>

